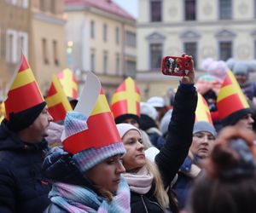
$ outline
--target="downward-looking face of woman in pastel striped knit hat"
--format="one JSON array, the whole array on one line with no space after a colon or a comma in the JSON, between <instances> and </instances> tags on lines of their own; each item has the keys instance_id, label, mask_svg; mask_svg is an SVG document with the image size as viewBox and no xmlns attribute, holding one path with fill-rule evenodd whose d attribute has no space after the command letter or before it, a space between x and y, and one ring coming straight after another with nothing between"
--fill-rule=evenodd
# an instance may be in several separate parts
<instances>
[{"instance_id":1,"label":"downward-looking face of woman in pastel striped knit hat","mask_svg":"<svg viewBox=\"0 0 256 213\"><path fill-rule=\"evenodd\" d=\"M97 187L101 187L109 192L116 192L120 182L120 174L125 172L122 164L122 155L115 155L107 158L100 164L85 173Z\"/></svg>"}]
</instances>

